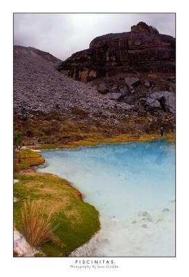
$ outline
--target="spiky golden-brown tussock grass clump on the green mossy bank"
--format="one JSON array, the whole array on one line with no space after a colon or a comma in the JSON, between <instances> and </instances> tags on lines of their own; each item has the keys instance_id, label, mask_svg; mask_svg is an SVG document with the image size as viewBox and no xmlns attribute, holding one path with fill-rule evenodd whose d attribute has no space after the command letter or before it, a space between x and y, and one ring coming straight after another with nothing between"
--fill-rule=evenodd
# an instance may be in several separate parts
<instances>
[{"instance_id":1,"label":"spiky golden-brown tussock grass clump on the green mossy bank","mask_svg":"<svg viewBox=\"0 0 189 277\"><path fill-rule=\"evenodd\" d=\"M44 242L55 240L53 231L57 225L51 225L51 214L52 212L46 215L40 200L30 201L30 197L24 200L21 208L22 231L30 245L39 247Z\"/></svg>"}]
</instances>

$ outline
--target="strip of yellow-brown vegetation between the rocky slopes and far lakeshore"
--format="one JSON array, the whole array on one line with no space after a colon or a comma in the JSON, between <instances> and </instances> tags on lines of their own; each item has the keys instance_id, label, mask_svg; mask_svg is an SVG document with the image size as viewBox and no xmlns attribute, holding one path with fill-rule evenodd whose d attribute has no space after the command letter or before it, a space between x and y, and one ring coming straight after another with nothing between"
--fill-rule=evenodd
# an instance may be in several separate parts
<instances>
[{"instance_id":1,"label":"strip of yellow-brown vegetation between the rocky slopes and far lakeshore","mask_svg":"<svg viewBox=\"0 0 189 277\"><path fill-rule=\"evenodd\" d=\"M115 123L115 118L93 118L84 115L82 110L73 109L73 118L66 118L61 114L35 114L33 118L19 118L15 116L14 130L19 132L24 145L44 145L41 149L47 149L48 145L53 148L64 148L64 145L72 145L77 141L91 141L94 138L109 139L116 136L143 136L145 134L159 134L163 126L165 133L174 134L174 116L133 116L127 115ZM54 117L53 117L54 116ZM52 148L52 147L51 147Z\"/></svg>"}]
</instances>

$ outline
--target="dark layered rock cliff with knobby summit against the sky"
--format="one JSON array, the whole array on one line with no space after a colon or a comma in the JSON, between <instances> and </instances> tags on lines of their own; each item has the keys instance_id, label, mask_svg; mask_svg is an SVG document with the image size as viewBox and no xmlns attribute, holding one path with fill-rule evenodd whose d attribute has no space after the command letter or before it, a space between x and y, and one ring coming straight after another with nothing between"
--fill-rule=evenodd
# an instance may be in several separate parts
<instances>
[{"instance_id":1,"label":"dark layered rock cliff with knobby summit against the sky","mask_svg":"<svg viewBox=\"0 0 189 277\"><path fill-rule=\"evenodd\" d=\"M59 70L83 82L134 71L174 73L175 39L139 22L130 32L96 37L89 49L71 55Z\"/></svg>"}]
</instances>

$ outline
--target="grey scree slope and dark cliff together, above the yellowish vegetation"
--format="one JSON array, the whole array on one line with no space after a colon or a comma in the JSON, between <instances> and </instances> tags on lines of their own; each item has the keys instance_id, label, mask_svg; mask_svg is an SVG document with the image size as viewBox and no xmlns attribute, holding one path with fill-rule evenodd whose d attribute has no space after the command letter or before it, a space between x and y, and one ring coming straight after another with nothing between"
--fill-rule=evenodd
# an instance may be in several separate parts
<instances>
[{"instance_id":1,"label":"grey scree slope and dark cliff together, above the yellowish vegetation","mask_svg":"<svg viewBox=\"0 0 189 277\"><path fill-rule=\"evenodd\" d=\"M18 116L55 111L73 119L84 113L119 120L171 114L174 122L175 92L175 39L143 22L131 32L96 37L89 49L65 62L36 48L14 46Z\"/></svg>"}]
</instances>

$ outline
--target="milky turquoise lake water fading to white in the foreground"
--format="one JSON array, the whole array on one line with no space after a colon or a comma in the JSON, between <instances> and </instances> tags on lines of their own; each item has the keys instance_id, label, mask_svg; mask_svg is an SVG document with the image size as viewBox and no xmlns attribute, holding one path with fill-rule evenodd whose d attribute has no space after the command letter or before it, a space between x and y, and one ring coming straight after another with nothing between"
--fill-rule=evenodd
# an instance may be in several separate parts
<instances>
[{"instance_id":1,"label":"milky turquoise lake water fading to white in the foreground","mask_svg":"<svg viewBox=\"0 0 189 277\"><path fill-rule=\"evenodd\" d=\"M100 212L73 256L174 256L175 145L165 140L44 150L41 172L68 179Z\"/></svg>"}]
</instances>

